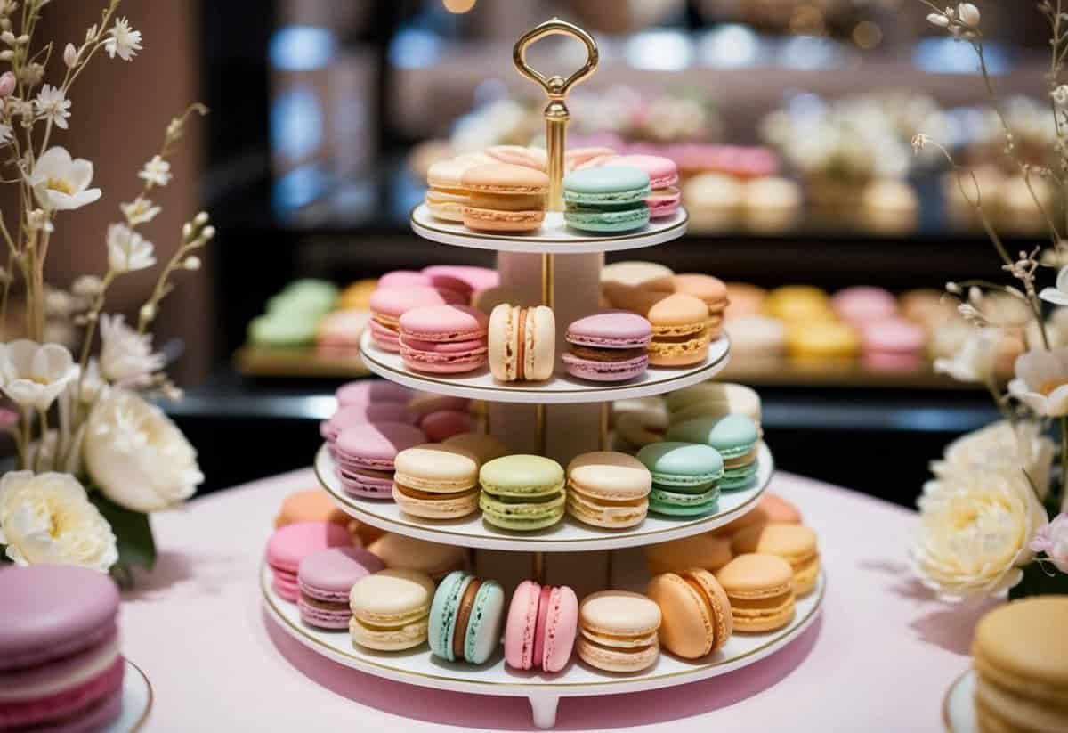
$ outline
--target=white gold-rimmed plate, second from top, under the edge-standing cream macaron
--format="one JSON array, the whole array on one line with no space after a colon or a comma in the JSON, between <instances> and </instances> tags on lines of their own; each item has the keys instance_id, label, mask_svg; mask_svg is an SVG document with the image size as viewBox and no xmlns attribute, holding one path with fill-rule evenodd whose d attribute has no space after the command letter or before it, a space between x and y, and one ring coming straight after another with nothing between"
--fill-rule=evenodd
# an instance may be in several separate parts
<instances>
[{"instance_id":1,"label":"white gold-rimmed plate, second from top, under the edge-standing cream macaron","mask_svg":"<svg viewBox=\"0 0 1068 733\"><path fill-rule=\"evenodd\" d=\"M647 397L682 389L714 376L726 367L729 354L731 342L723 336L709 345L703 363L674 369L649 368L641 376L627 381L586 381L557 371L545 381L503 383L493 378L489 367L464 374L413 372L405 367L399 354L383 352L375 346L370 330L360 338L360 356L364 365L378 376L405 387L469 400L550 405Z\"/></svg>"}]
</instances>

